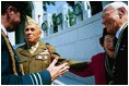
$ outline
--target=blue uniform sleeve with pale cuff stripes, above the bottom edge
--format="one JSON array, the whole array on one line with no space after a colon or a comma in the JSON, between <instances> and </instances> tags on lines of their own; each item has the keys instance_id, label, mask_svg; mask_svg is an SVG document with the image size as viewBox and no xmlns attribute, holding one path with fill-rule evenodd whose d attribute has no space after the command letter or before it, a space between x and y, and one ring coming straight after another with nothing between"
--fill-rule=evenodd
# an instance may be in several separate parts
<instances>
[{"instance_id":1,"label":"blue uniform sleeve with pale cuff stripes, above the bottom edge","mask_svg":"<svg viewBox=\"0 0 129 86\"><path fill-rule=\"evenodd\" d=\"M51 76L48 71L16 76L4 74L1 77L2 85L50 85Z\"/></svg>"}]
</instances>

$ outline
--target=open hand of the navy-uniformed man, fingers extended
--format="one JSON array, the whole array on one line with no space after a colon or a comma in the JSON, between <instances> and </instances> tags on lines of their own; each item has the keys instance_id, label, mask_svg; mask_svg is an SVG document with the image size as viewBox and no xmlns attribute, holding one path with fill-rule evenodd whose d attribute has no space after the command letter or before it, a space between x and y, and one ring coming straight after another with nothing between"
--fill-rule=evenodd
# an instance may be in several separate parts
<instances>
[{"instance_id":1,"label":"open hand of the navy-uniformed man, fingers extended","mask_svg":"<svg viewBox=\"0 0 129 86\"><path fill-rule=\"evenodd\" d=\"M60 75L64 74L70 69L68 62L64 62L64 63L56 66L57 62L58 62L58 58L54 59L54 61L51 62L51 64L47 69L50 72L51 81L54 81L57 77L59 77Z\"/></svg>"}]
</instances>

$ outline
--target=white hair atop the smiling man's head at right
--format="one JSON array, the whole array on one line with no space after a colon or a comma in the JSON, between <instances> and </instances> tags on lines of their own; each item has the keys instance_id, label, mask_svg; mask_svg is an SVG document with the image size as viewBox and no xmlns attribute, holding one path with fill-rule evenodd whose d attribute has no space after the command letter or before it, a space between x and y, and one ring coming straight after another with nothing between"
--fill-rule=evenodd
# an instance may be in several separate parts
<instances>
[{"instance_id":1,"label":"white hair atop the smiling man's head at right","mask_svg":"<svg viewBox=\"0 0 129 86\"><path fill-rule=\"evenodd\" d=\"M128 12L128 5L127 5L125 2L120 2L120 1L112 2L112 3L107 4L107 5L105 5L104 10L105 10L107 7L112 7L112 8L114 8L115 10L118 9L118 8L124 7L124 8L126 9L126 11Z\"/></svg>"}]
</instances>

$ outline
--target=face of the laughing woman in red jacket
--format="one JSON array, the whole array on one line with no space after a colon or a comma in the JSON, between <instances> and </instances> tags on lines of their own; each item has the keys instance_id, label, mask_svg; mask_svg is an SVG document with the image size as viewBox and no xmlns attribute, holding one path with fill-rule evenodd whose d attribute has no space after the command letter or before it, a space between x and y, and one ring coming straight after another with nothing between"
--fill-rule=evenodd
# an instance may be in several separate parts
<instances>
[{"instance_id":1,"label":"face of the laughing woman in red jacket","mask_svg":"<svg viewBox=\"0 0 129 86\"><path fill-rule=\"evenodd\" d=\"M110 58L114 58L115 49L114 49L114 36L106 35L104 37L104 49Z\"/></svg>"}]
</instances>

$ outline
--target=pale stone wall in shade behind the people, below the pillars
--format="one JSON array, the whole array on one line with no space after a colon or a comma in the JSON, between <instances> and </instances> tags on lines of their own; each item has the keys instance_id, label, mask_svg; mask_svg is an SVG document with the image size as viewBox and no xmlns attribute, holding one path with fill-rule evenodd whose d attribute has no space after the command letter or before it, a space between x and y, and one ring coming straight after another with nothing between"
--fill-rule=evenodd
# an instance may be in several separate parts
<instances>
[{"instance_id":1,"label":"pale stone wall in shade behind the people, below the pillars","mask_svg":"<svg viewBox=\"0 0 129 86\"><path fill-rule=\"evenodd\" d=\"M90 61L93 54L103 51L98 38L102 36L101 13L80 22L69 28L43 38L56 47L62 57L77 60Z\"/></svg>"}]
</instances>

